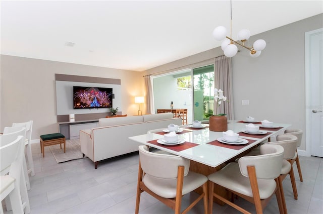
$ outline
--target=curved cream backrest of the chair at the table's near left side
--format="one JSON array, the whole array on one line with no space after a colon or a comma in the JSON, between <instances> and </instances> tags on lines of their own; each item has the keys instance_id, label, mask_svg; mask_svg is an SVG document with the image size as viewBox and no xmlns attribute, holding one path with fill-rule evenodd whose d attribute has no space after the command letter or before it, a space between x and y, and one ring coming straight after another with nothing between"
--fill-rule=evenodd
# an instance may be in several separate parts
<instances>
[{"instance_id":1,"label":"curved cream backrest of the chair at the table's near left side","mask_svg":"<svg viewBox=\"0 0 323 214\"><path fill-rule=\"evenodd\" d=\"M190 161L177 155L149 152L145 145L139 146L139 158L142 170L161 179L176 179L178 166L184 166L184 176L188 174Z\"/></svg>"}]
</instances>

